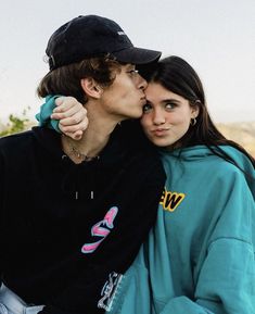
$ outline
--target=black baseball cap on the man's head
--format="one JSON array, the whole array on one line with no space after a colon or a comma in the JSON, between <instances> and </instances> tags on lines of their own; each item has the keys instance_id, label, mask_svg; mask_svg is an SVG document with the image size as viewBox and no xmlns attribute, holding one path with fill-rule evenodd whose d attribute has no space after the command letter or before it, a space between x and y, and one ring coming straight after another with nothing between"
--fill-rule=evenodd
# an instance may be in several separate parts
<instances>
[{"instance_id":1,"label":"black baseball cap on the man's head","mask_svg":"<svg viewBox=\"0 0 255 314\"><path fill-rule=\"evenodd\" d=\"M118 62L138 65L157 61L162 54L133 47L117 23L98 15L80 15L62 25L50 37L46 53L50 71L107 53Z\"/></svg>"}]
</instances>

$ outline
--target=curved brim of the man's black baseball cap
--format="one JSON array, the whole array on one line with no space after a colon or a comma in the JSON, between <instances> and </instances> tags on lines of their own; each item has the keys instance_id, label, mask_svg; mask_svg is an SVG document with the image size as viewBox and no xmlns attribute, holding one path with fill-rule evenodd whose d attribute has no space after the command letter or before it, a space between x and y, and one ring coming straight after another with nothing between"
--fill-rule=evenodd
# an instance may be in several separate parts
<instances>
[{"instance_id":1,"label":"curved brim of the man's black baseball cap","mask_svg":"<svg viewBox=\"0 0 255 314\"><path fill-rule=\"evenodd\" d=\"M149 64L157 61L162 52L143 48L130 47L112 53L117 61L131 64Z\"/></svg>"}]
</instances>

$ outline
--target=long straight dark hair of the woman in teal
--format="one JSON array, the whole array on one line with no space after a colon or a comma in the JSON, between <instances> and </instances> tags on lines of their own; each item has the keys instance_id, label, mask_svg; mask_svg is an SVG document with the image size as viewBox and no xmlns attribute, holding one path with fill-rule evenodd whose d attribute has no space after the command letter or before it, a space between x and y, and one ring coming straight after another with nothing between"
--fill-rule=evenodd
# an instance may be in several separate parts
<instances>
[{"instance_id":1,"label":"long straight dark hair of the woman in teal","mask_svg":"<svg viewBox=\"0 0 255 314\"><path fill-rule=\"evenodd\" d=\"M239 167L234 160L220 149L220 146L231 146L244 153L255 167L255 160L252 155L242 146L227 139L213 123L206 106L202 81L188 62L175 55L165 58L157 63L148 79L149 81L160 83L171 92L186 98L191 106L199 106L196 124L191 125L181 138L181 147L204 145L215 154Z\"/></svg>"}]
</instances>

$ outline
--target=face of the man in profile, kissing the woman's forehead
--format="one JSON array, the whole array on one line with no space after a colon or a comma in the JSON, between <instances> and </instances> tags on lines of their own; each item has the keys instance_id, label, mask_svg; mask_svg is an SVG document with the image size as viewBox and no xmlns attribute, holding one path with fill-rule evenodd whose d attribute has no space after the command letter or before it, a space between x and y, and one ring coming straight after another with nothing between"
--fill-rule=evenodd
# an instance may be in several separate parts
<instances>
[{"instance_id":1,"label":"face of the man in profile, kissing the woman's forehead","mask_svg":"<svg viewBox=\"0 0 255 314\"><path fill-rule=\"evenodd\" d=\"M122 65L120 72L116 72L113 84L103 91L101 104L107 113L120 120L141 117L145 104L146 85L135 65Z\"/></svg>"}]
</instances>

